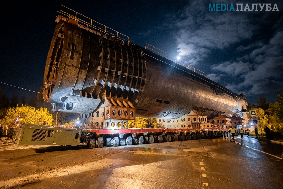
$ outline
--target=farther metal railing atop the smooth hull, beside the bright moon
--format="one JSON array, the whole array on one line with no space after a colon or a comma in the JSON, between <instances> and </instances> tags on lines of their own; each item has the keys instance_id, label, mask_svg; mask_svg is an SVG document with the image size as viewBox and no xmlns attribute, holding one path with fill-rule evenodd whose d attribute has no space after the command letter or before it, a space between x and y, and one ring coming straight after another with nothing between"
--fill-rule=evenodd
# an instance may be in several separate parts
<instances>
[{"instance_id":1,"label":"farther metal railing atop the smooth hull, beside the bright moon","mask_svg":"<svg viewBox=\"0 0 283 189\"><path fill-rule=\"evenodd\" d=\"M167 52L164 52L163 50L160 50L159 48L156 48L156 47L154 47L154 46L152 46L152 45L150 45L148 43L145 44L145 49L150 50L150 51L152 51L152 52L154 52L154 53L156 53L156 54L158 54L158 55L160 55L160 56L162 56L164 58L167 58L168 60L175 61L176 63L183 64L183 66L185 67L185 62L182 62L181 60L179 60L175 56L172 56L172 55L168 54ZM196 68L194 68L192 66L188 65L188 69L190 69L190 70L193 69L194 72L200 73L200 75L203 75L204 77L207 77L206 73L204 73L203 71L200 71L199 69L196 69Z\"/></svg>"}]
</instances>

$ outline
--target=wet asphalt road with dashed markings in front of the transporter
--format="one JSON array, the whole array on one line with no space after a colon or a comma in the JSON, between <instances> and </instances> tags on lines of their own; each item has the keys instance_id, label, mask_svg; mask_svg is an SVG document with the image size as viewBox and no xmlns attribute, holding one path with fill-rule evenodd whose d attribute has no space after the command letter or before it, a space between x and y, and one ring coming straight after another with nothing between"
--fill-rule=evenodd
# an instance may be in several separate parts
<instances>
[{"instance_id":1,"label":"wet asphalt road with dashed markings in front of the transporter","mask_svg":"<svg viewBox=\"0 0 283 189\"><path fill-rule=\"evenodd\" d=\"M246 136L234 141L283 158L283 145ZM283 159L247 146L218 138L135 145L128 150L4 150L0 188L282 188Z\"/></svg>"}]
</instances>

